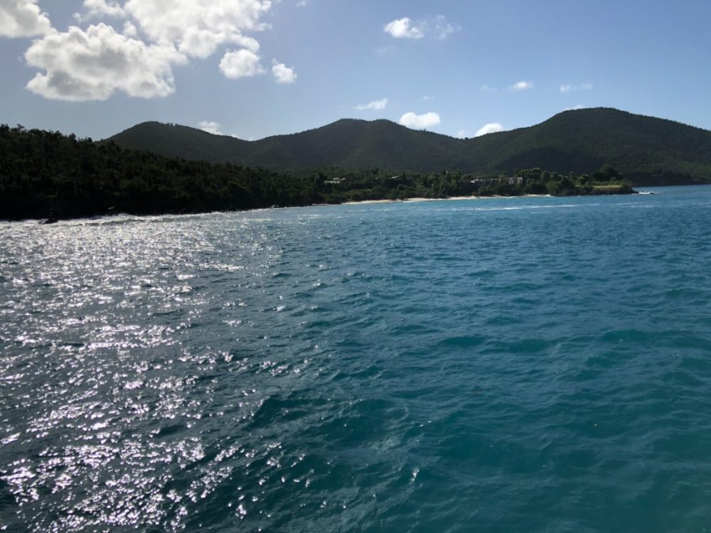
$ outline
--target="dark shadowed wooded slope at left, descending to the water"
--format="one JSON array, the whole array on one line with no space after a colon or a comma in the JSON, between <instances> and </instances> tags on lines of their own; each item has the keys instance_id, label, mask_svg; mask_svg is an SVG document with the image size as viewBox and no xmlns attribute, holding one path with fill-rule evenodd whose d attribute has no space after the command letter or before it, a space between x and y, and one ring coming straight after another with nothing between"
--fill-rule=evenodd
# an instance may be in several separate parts
<instances>
[{"instance_id":1,"label":"dark shadowed wooded slope at left, descending to the water","mask_svg":"<svg viewBox=\"0 0 711 533\"><path fill-rule=\"evenodd\" d=\"M309 205L313 181L185 161L50 131L0 126L0 218Z\"/></svg>"}]
</instances>

